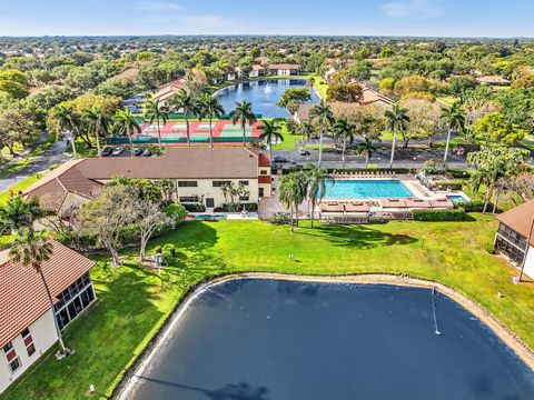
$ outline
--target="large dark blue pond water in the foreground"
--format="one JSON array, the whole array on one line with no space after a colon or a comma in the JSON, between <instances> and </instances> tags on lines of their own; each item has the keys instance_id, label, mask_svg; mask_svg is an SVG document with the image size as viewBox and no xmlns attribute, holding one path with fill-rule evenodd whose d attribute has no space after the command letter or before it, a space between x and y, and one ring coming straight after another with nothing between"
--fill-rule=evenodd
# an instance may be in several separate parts
<instances>
[{"instance_id":1,"label":"large dark blue pond water in the foreground","mask_svg":"<svg viewBox=\"0 0 534 400\"><path fill-rule=\"evenodd\" d=\"M238 279L189 303L128 399L532 400L534 373L427 289ZM437 323L441 334L436 334Z\"/></svg>"}]
</instances>

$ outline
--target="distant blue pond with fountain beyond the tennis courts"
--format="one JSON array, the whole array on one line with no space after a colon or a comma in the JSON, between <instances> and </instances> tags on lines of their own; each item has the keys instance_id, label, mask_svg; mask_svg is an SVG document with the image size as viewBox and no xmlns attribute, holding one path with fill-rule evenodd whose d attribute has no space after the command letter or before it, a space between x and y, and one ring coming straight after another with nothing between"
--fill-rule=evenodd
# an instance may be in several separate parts
<instances>
[{"instance_id":1,"label":"distant blue pond with fountain beyond the tennis courts","mask_svg":"<svg viewBox=\"0 0 534 400\"><path fill-rule=\"evenodd\" d=\"M286 89L306 88L304 79L267 79L244 82L224 88L217 92L220 104L226 113L234 111L236 102L247 100L253 103L253 110L263 118L287 118L289 112L277 106ZM308 88L310 103L320 101L317 92Z\"/></svg>"}]
</instances>

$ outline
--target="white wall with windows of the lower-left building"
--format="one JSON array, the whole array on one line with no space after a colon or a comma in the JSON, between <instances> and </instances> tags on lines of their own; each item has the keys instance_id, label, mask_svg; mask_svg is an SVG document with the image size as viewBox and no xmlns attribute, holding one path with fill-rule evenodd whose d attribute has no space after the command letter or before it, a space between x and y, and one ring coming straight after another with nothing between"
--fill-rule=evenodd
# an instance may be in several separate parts
<instances>
[{"instance_id":1,"label":"white wall with windows of the lower-left building","mask_svg":"<svg viewBox=\"0 0 534 400\"><path fill-rule=\"evenodd\" d=\"M39 357L41 357L58 340L56 327L53 324L53 312L48 310L30 327L30 334L33 339L36 352L28 356L22 337L19 334L11 343L13 344L17 357L20 359L21 367L11 373L8 360L2 349L0 349L0 393L3 392L17 378L19 378Z\"/></svg>"}]
</instances>

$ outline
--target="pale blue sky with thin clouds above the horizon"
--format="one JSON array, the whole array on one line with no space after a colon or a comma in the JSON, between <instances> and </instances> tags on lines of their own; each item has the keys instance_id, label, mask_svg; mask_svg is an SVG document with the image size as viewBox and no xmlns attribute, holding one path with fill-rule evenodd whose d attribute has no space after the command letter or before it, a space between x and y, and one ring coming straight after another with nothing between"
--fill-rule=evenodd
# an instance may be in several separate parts
<instances>
[{"instance_id":1,"label":"pale blue sky with thin clouds above the horizon","mask_svg":"<svg viewBox=\"0 0 534 400\"><path fill-rule=\"evenodd\" d=\"M534 0L0 0L0 36L534 37Z\"/></svg>"}]
</instances>

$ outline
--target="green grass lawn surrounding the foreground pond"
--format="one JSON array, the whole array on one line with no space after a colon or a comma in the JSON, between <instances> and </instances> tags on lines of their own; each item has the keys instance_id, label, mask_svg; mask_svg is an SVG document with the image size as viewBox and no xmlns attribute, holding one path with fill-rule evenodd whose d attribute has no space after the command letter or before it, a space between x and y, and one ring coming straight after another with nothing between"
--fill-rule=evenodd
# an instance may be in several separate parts
<instances>
[{"instance_id":1,"label":"green grass lawn surrounding the foreground pond","mask_svg":"<svg viewBox=\"0 0 534 400\"><path fill-rule=\"evenodd\" d=\"M99 301L65 334L76 356L60 362L44 358L3 399L81 399L90 383L98 391L96 398L108 397L184 294L184 277L191 286L239 271L404 272L433 279L479 302L534 348L534 284L512 284L517 272L487 252L496 227L493 217L484 216L469 222L314 230L305 222L295 234L288 227L258 221L187 222L150 243L154 248L172 242L180 250L176 264L161 274L139 267L134 249L122 253L126 263L119 268L107 257L97 258L92 278ZM497 292L504 297L498 299Z\"/></svg>"}]
</instances>

